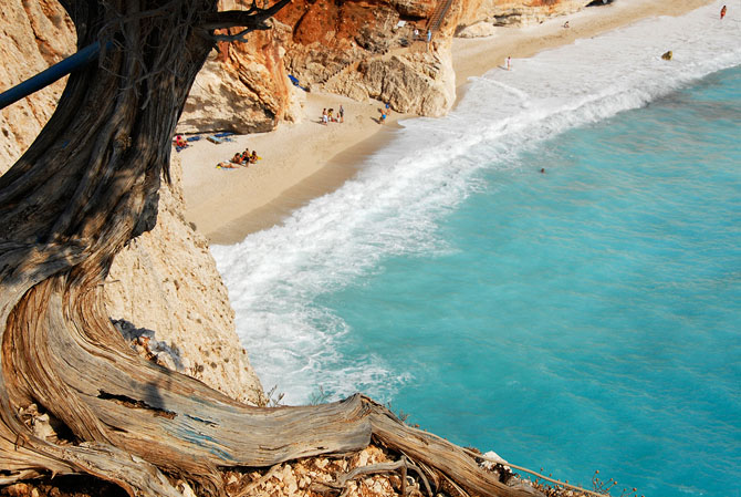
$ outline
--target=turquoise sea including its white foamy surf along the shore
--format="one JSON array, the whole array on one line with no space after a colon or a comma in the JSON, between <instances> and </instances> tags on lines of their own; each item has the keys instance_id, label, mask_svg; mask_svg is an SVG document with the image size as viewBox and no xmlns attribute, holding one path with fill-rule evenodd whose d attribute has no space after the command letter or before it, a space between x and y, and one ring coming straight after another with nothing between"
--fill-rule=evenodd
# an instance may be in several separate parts
<instances>
[{"instance_id":1,"label":"turquoise sea including its white foamy surf along the shore","mask_svg":"<svg viewBox=\"0 0 741 497\"><path fill-rule=\"evenodd\" d=\"M613 495L741 495L741 12L721 4L473 79L338 190L213 247L265 389L364 392Z\"/></svg>"}]
</instances>

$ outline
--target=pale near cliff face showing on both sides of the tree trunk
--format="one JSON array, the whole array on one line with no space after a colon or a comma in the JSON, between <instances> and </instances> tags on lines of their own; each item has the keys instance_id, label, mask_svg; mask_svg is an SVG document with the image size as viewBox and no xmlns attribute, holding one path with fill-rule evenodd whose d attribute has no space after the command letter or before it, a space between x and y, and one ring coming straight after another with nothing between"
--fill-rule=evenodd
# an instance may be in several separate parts
<instances>
[{"instance_id":1,"label":"pale near cliff face showing on both sides of the tree trunk","mask_svg":"<svg viewBox=\"0 0 741 497\"><path fill-rule=\"evenodd\" d=\"M0 32L2 90L74 52L71 21L56 1L3 6ZM63 87L58 82L2 111L0 174L39 134ZM261 403L262 389L234 332L208 242L182 217L179 162L170 168L173 184L160 190L157 227L114 261L105 286L108 312L126 338L138 339L135 344L147 358L234 398Z\"/></svg>"}]
</instances>

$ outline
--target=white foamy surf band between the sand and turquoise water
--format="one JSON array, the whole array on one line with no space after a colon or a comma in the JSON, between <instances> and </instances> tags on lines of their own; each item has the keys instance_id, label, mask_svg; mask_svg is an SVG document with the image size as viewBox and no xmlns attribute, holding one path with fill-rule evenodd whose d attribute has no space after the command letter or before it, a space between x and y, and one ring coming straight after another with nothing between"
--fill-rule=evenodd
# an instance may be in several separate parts
<instances>
[{"instance_id":1,"label":"white foamy surf band between the sand and turquoise water","mask_svg":"<svg viewBox=\"0 0 741 497\"><path fill-rule=\"evenodd\" d=\"M362 390L390 400L410 375L383 358L343 358L337 345L353 330L315 299L392 255L443 250L436 221L478 187L481 168L509 167L538 141L741 64L740 23L719 22L721 4L645 20L473 79L448 116L404 122L357 179L282 226L213 247L263 385L278 385L289 404L307 402L320 386L333 398ZM667 50L670 62L660 59Z\"/></svg>"}]
</instances>

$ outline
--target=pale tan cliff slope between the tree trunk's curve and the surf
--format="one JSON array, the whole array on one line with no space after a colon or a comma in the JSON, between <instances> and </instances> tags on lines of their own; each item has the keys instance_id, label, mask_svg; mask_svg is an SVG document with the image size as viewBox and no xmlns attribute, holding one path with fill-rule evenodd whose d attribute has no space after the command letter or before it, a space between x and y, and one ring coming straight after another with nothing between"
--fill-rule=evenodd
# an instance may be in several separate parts
<instances>
[{"instance_id":1,"label":"pale tan cliff slope between the tree trunk's curve and the surf","mask_svg":"<svg viewBox=\"0 0 741 497\"><path fill-rule=\"evenodd\" d=\"M129 335L144 332L163 365L243 402L261 403L262 387L239 344L234 311L208 240L182 217L181 168L170 163L154 230L116 256L106 280L106 308ZM134 327L144 329L132 333ZM127 329L128 328L128 329ZM145 350L145 352L148 352Z\"/></svg>"}]
</instances>

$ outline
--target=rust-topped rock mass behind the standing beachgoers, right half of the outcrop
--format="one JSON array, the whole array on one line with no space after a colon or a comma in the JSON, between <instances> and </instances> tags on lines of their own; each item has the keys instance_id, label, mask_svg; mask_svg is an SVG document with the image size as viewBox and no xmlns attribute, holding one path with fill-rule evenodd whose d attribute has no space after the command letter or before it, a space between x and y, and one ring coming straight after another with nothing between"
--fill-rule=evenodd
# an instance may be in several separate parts
<instances>
[{"instance_id":1,"label":"rust-topped rock mass behind the standing beachgoers, right half of the outcrop","mask_svg":"<svg viewBox=\"0 0 741 497\"><path fill-rule=\"evenodd\" d=\"M279 19L293 27L285 65L311 89L397 112L445 114L455 101L449 37L424 40L437 1L294 1ZM415 29L419 31L415 35Z\"/></svg>"}]
</instances>

